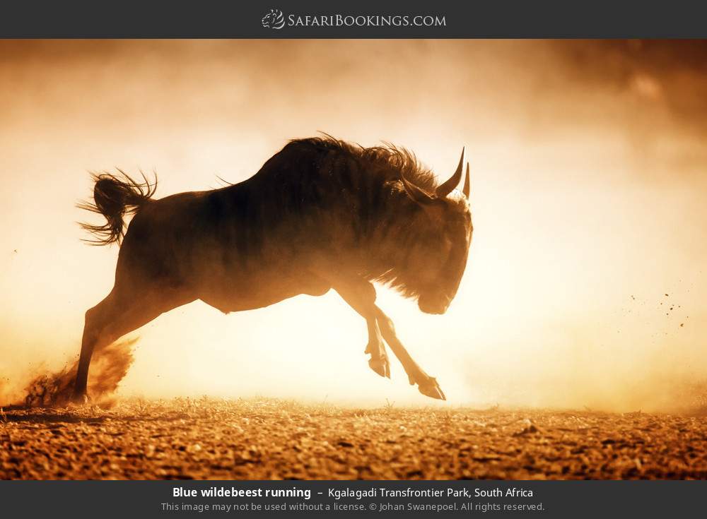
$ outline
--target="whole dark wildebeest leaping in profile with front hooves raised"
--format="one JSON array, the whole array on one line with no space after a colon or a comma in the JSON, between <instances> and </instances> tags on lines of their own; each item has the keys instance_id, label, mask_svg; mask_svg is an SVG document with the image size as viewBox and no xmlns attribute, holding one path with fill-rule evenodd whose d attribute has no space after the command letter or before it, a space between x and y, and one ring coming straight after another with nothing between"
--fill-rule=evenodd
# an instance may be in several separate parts
<instances>
[{"instance_id":1,"label":"whole dark wildebeest leaping in profile with front hooves raised","mask_svg":"<svg viewBox=\"0 0 707 519\"><path fill-rule=\"evenodd\" d=\"M472 239L469 165L435 177L407 150L362 148L334 138L288 143L257 174L222 189L155 200L155 184L95 174L104 225L94 244L122 240L115 285L86 312L74 400L86 400L93 351L166 311L201 299L228 313L298 294L336 290L366 319L368 364L390 377L385 343L423 395L444 400L375 304L373 282L443 314L459 287ZM127 232L123 217L134 213Z\"/></svg>"}]
</instances>

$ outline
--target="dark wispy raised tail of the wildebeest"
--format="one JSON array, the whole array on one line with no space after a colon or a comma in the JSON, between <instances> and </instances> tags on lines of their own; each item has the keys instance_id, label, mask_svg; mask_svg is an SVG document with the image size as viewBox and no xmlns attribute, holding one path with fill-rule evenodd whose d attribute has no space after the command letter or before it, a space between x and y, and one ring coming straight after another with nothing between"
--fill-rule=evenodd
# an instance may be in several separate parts
<instances>
[{"instance_id":1,"label":"dark wispy raised tail of the wildebeest","mask_svg":"<svg viewBox=\"0 0 707 519\"><path fill-rule=\"evenodd\" d=\"M153 182L148 181L144 173L140 172L143 181L135 181L121 169L119 174L92 173L95 181L93 186L93 203L82 202L78 208L98 213L105 217L105 224L92 225L79 223L93 235L93 239L86 239L91 245L107 245L114 242L120 243L124 234L125 215L137 213L140 208L150 201L157 189L157 176Z\"/></svg>"}]
</instances>

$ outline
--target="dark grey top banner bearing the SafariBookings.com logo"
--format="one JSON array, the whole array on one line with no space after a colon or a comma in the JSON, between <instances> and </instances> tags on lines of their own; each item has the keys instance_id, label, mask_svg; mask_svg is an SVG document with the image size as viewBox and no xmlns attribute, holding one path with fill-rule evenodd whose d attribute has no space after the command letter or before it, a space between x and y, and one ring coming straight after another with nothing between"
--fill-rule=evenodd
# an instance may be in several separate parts
<instances>
[{"instance_id":1,"label":"dark grey top banner bearing the SafariBookings.com logo","mask_svg":"<svg viewBox=\"0 0 707 519\"><path fill-rule=\"evenodd\" d=\"M24 0L5 2L2 37L699 38L697 1Z\"/></svg>"}]
</instances>

